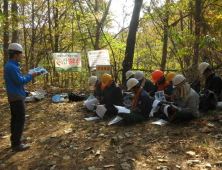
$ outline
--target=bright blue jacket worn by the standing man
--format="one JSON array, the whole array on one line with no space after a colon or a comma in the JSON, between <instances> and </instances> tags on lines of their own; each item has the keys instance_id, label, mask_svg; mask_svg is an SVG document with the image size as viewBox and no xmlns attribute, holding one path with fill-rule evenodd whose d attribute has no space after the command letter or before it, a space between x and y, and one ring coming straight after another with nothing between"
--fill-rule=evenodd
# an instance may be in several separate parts
<instances>
[{"instance_id":1,"label":"bright blue jacket worn by the standing man","mask_svg":"<svg viewBox=\"0 0 222 170\"><path fill-rule=\"evenodd\" d=\"M20 64L12 59L9 59L5 66L4 78L9 102L24 100L26 97L24 84L33 79L31 74L22 77L19 66Z\"/></svg>"}]
</instances>

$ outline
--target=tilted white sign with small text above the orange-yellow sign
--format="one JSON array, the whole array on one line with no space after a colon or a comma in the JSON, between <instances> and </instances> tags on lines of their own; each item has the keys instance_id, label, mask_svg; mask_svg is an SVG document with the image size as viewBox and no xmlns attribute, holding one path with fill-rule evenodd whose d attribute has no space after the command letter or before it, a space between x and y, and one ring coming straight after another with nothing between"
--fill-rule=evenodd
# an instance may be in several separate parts
<instances>
[{"instance_id":1,"label":"tilted white sign with small text above the orange-yellow sign","mask_svg":"<svg viewBox=\"0 0 222 170\"><path fill-rule=\"evenodd\" d=\"M97 65L110 65L108 50L89 51L88 60L90 69L96 68Z\"/></svg>"}]
</instances>

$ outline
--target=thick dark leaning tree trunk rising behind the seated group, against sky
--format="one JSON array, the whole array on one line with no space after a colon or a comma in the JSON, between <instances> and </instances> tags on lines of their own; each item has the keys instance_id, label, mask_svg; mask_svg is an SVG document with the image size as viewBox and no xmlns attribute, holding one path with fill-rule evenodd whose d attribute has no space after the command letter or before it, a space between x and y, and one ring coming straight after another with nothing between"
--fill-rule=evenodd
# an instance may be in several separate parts
<instances>
[{"instance_id":1,"label":"thick dark leaning tree trunk rising behind the seated group, against sky","mask_svg":"<svg viewBox=\"0 0 222 170\"><path fill-rule=\"evenodd\" d=\"M130 21L129 34L127 38L125 58L123 60L123 72L122 72L122 83L126 84L126 72L132 69L133 57L136 43L136 32L139 25L140 9L143 4L143 0L135 0L133 15Z\"/></svg>"}]
</instances>

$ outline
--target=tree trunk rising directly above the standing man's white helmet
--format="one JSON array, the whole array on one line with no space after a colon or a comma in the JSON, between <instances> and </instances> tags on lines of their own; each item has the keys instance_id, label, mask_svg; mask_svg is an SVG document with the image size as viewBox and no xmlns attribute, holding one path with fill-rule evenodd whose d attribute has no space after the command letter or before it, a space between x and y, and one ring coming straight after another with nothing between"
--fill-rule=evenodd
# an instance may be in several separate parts
<instances>
[{"instance_id":1,"label":"tree trunk rising directly above the standing man's white helmet","mask_svg":"<svg viewBox=\"0 0 222 170\"><path fill-rule=\"evenodd\" d=\"M16 0L12 1L12 43L18 43L18 6Z\"/></svg>"}]
</instances>

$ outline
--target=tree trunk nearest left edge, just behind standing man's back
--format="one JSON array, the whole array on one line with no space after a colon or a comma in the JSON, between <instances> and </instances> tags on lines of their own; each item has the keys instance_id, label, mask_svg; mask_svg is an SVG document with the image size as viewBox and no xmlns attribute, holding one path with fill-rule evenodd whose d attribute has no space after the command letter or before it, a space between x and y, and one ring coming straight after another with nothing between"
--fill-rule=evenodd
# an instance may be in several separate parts
<instances>
[{"instance_id":1,"label":"tree trunk nearest left edge, just behind standing man's back","mask_svg":"<svg viewBox=\"0 0 222 170\"><path fill-rule=\"evenodd\" d=\"M4 11L4 35L3 35L3 53L4 53L4 69L5 69L5 65L8 62L8 42L9 42L9 23L8 23L8 0L4 0L4 7L3 7Z\"/></svg>"}]
</instances>

